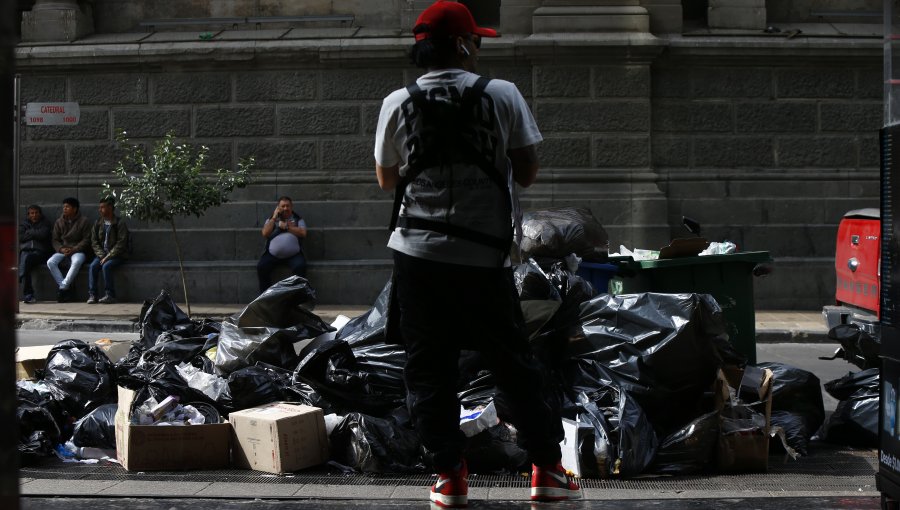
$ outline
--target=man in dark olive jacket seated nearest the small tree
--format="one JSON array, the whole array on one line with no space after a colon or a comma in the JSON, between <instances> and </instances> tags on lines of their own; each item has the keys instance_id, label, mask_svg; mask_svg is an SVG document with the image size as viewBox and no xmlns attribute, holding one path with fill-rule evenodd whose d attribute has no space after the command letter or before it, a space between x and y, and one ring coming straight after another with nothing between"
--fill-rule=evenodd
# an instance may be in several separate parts
<instances>
[{"instance_id":1,"label":"man in dark olive jacket seated nearest the small tree","mask_svg":"<svg viewBox=\"0 0 900 510\"><path fill-rule=\"evenodd\" d=\"M128 225L116 216L116 202L112 197L100 200L100 217L91 229L91 247L97 256L88 271L88 301L110 304L116 302L113 270L128 258ZM97 280L103 270L104 294L97 300Z\"/></svg>"}]
</instances>

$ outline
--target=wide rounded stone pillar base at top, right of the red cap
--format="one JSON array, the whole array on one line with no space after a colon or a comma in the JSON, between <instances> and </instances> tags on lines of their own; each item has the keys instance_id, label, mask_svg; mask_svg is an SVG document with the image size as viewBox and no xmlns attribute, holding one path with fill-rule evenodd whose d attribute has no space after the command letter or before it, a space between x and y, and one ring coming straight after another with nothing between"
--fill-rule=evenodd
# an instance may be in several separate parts
<instances>
[{"instance_id":1,"label":"wide rounded stone pillar base at top, right of the red cap","mask_svg":"<svg viewBox=\"0 0 900 510\"><path fill-rule=\"evenodd\" d=\"M544 0L531 21L535 34L650 31L638 0Z\"/></svg>"}]
</instances>

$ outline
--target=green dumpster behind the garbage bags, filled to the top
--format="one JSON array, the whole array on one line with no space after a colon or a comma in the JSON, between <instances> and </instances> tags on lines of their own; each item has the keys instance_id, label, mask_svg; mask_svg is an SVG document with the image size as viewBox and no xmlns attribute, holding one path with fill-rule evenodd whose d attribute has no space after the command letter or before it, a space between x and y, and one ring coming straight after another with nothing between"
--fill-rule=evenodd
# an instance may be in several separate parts
<instances>
[{"instance_id":1,"label":"green dumpster behind the garbage bags, filled to the top","mask_svg":"<svg viewBox=\"0 0 900 510\"><path fill-rule=\"evenodd\" d=\"M674 259L618 261L623 270L609 282L611 294L660 292L711 294L727 322L735 349L756 363L754 269L771 262L767 251Z\"/></svg>"}]
</instances>

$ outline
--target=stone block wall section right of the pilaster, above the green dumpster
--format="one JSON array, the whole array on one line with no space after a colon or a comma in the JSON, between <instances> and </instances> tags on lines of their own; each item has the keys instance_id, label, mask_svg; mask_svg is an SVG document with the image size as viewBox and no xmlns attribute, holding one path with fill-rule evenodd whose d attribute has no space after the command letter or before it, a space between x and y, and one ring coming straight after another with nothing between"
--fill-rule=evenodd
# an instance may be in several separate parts
<instances>
[{"instance_id":1,"label":"stone block wall section right of the pilaster, above the green dumpster","mask_svg":"<svg viewBox=\"0 0 900 510\"><path fill-rule=\"evenodd\" d=\"M878 207L879 64L835 55L654 67L654 163L673 235L687 215L710 240L769 251L775 271L758 284L767 308L830 303L836 224Z\"/></svg>"}]
</instances>

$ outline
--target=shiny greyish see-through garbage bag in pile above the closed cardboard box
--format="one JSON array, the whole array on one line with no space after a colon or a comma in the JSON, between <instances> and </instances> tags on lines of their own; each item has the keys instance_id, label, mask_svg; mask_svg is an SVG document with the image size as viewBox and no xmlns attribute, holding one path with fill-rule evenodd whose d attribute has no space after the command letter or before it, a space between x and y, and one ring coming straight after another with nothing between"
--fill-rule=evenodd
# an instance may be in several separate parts
<instances>
[{"instance_id":1,"label":"shiny greyish see-through garbage bag in pile above the closed cardboard box","mask_svg":"<svg viewBox=\"0 0 900 510\"><path fill-rule=\"evenodd\" d=\"M227 376L260 361L276 367L294 368L300 360L294 342L305 338L310 337L293 328L239 328L223 322L216 351L216 372Z\"/></svg>"}]
</instances>

